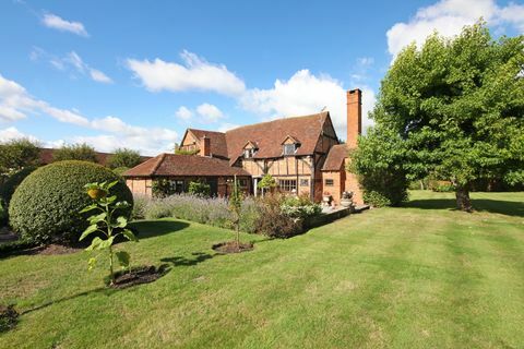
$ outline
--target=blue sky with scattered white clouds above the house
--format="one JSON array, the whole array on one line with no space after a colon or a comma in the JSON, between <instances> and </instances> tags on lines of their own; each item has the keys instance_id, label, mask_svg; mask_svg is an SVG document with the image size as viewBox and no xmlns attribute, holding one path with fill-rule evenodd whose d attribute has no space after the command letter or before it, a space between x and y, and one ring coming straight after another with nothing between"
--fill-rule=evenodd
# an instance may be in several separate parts
<instances>
[{"instance_id":1,"label":"blue sky with scattered white clouds above the house","mask_svg":"<svg viewBox=\"0 0 524 349\"><path fill-rule=\"evenodd\" d=\"M154 155L188 127L323 107L345 139L345 89L361 88L371 109L402 47L480 16L496 36L524 33L515 1L5 0L0 141Z\"/></svg>"}]
</instances>

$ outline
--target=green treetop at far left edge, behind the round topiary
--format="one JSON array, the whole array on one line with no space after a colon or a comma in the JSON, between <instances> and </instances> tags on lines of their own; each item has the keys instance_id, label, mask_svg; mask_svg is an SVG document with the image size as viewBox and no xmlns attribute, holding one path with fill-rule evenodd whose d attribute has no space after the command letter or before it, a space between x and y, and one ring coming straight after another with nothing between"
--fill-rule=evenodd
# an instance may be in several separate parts
<instances>
[{"instance_id":1,"label":"green treetop at far left edge, behind the round topiary","mask_svg":"<svg viewBox=\"0 0 524 349\"><path fill-rule=\"evenodd\" d=\"M39 144L28 139L12 140L0 144L0 174L20 171L24 167L38 166Z\"/></svg>"}]
</instances>

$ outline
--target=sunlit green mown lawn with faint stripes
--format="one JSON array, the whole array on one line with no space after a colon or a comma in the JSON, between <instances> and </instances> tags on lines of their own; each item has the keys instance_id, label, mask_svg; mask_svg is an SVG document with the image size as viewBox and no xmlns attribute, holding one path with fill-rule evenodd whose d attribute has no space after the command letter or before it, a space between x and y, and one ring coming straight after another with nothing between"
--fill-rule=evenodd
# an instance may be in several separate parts
<instances>
[{"instance_id":1,"label":"sunlit green mown lawn with faint stripes","mask_svg":"<svg viewBox=\"0 0 524 349\"><path fill-rule=\"evenodd\" d=\"M115 291L87 253L0 258L1 302L23 313L0 348L523 348L524 193L412 193L255 250L233 232L143 221L135 263L159 280Z\"/></svg>"}]
</instances>

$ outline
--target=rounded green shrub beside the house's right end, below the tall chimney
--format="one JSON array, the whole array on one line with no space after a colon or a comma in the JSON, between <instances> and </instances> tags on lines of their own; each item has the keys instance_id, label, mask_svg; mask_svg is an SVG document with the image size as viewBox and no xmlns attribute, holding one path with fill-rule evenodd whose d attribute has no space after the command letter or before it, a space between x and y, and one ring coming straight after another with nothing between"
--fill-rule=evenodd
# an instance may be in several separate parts
<instances>
[{"instance_id":1,"label":"rounded green shrub beside the house's right end, below the tall chimney","mask_svg":"<svg viewBox=\"0 0 524 349\"><path fill-rule=\"evenodd\" d=\"M405 149L398 134L381 125L371 128L350 156L348 170L358 174L366 203L396 206L407 200Z\"/></svg>"}]
</instances>

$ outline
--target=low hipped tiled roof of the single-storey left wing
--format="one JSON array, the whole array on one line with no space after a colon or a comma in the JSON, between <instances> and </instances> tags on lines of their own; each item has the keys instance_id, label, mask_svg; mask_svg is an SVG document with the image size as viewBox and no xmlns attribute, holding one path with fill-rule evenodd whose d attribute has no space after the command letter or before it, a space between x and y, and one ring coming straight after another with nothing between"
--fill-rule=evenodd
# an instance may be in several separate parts
<instances>
[{"instance_id":1,"label":"low hipped tiled roof of the single-storey left wing","mask_svg":"<svg viewBox=\"0 0 524 349\"><path fill-rule=\"evenodd\" d=\"M123 173L123 177L250 176L227 160L196 155L160 154Z\"/></svg>"}]
</instances>

